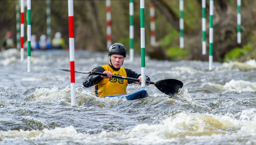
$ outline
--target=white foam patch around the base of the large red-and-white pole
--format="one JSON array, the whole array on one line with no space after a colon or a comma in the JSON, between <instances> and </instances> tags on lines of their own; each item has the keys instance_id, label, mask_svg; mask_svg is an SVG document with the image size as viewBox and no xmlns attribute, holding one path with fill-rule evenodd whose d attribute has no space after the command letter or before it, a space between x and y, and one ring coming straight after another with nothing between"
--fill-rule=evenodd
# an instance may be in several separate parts
<instances>
[{"instance_id":1,"label":"white foam patch around the base of the large red-and-white pole","mask_svg":"<svg viewBox=\"0 0 256 145\"><path fill-rule=\"evenodd\" d=\"M55 102L63 105L70 105L70 86L63 89L57 86L51 86L50 88L36 88L29 98L33 98L35 101L39 102ZM76 104L78 106L95 106L96 108L99 106L118 106L125 101L127 101L125 98L98 98L89 90L82 87L76 88Z\"/></svg>"}]
</instances>

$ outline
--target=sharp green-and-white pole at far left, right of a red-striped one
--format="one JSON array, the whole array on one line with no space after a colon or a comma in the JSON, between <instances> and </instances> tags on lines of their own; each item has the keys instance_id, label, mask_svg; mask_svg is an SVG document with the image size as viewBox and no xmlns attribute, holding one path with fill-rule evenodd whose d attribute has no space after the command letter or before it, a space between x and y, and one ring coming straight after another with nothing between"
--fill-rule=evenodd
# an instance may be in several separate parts
<instances>
[{"instance_id":1,"label":"sharp green-and-white pole at far left, right of a red-striped one","mask_svg":"<svg viewBox=\"0 0 256 145\"><path fill-rule=\"evenodd\" d=\"M27 0L28 72L31 72L31 0Z\"/></svg>"}]
</instances>

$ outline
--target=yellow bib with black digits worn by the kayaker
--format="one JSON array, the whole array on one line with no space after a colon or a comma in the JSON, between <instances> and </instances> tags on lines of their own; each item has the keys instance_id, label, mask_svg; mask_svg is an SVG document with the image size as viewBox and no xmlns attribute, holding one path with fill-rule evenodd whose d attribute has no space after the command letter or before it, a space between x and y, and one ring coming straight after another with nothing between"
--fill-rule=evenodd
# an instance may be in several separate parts
<instances>
[{"instance_id":1,"label":"yellow bib with black digits worn by the kayaker","mask_svg":"<svg viewBox=\"0 0 256 145\"><path fill-rule=\"evenodd\" d=\"M109 65L102 65L105 71L110 71L113 75L127 77L124 68L120 67L118 71L113 70ZM126 94L127 80L124 79L103 79L95 85L95 95L101 98L107 95Z\"/></svg>"}]
</instances>

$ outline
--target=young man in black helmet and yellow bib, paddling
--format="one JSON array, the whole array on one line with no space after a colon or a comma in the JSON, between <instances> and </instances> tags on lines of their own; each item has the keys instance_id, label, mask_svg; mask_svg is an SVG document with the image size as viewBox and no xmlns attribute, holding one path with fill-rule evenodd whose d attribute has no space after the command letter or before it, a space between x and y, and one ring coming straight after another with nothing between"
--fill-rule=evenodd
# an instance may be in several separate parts
<instances>
[{"instance_id":1,"label":"young man in black helmet and yellow bib, paddling","mask_svg":"<svg viewBox=\"0 0 256 145\"><path fill-rule=\"evenodd\" d=\"M103 72L107 76L98 76L90 74L84 81L84 87L95 86L95 95L101 98L107 95L126 94L127 84L135 83L134 81L112 78L112 75L130 77L139 79L141 84L141 75L135 71L121 67L126 57L126 48L121 43L114 43L109 49L109 64L95 67L92 71ZM146 80L150 78L146 76Z\"/></svg>"}]
</instances>

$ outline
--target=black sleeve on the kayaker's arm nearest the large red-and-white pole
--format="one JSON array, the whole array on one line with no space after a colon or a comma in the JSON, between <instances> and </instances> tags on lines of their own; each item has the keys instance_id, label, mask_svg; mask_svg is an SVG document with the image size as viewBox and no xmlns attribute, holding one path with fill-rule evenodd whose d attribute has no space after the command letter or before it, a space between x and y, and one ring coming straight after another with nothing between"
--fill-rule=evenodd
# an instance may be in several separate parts
<instances>
[{"instance_id":1,"label":"black sleeve on the kayaker's arm nearest the large red-and-white pole","mask_svg":"<svg viewBox=\"0 0 256 145\"><path fill-rule=\"evenodd\" d=\"M95 67L92 71L104 72L105 69L101 66L98 66L98 67ZM99 75L90 74L86 79L84 79L82 84L84 87L89 88L91 86L98 84L102 80L103 78L101 78Z\"/></svg>"}]
</instances>

